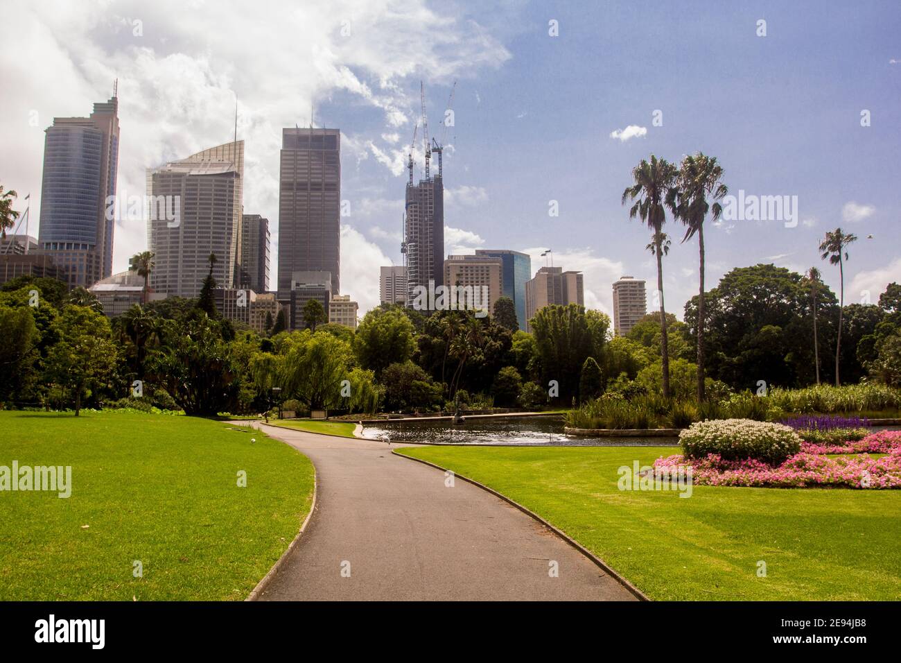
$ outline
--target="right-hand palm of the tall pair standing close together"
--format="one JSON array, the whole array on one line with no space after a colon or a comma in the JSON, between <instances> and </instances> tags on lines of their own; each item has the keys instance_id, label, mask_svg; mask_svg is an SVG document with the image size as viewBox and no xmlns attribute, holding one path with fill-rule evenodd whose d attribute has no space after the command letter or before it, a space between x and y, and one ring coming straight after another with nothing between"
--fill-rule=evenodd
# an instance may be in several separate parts
<instances>
[{"instance_id":1,"label":"right-hand palm of the tall pair standing close together","mask_svg":"<svg viewBox=\"0 0 901 663\"><path fill-rule=\"evenodd\" d=\"M673 216L685 226L687 242L697 235L698 277L697 291L697 402L704 401L704 220L711 212L714 222L723 215L720 200L729 192L723 183L723 167L716 162L716 157L708 157L704 152L689 154L682 160L678 174L678 186L670 189L667 200ZM713 200L713 206L707 198Z\"/></svg>"}]
</instances>

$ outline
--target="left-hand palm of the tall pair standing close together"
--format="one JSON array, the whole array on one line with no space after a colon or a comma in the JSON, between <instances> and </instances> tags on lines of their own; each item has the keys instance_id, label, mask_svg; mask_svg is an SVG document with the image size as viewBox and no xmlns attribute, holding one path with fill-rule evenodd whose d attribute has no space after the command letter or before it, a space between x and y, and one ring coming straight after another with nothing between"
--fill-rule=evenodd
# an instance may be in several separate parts
<instances>
[{"instance_id":1,"label":"left-hand palm of the tall pair standing close together","mask_svg":"<svg viewBox=\"0 0 901 663\"><path fill-rule=\"evenodd\" d=\"M660 296L660 357L663 369L663 397L669 398L669 343L667 339L667 315L663 304L663 246L666 223L666 200L670 189L676 182L677 170L669 161L651 154L651 161L642 159L632 170L635 183L623 191L622 203L634 200L629 209L629 218L636 216L642 223L651 228L656 244L654 254L657 256L657 292Z\"/></svg>"}]
</instances>

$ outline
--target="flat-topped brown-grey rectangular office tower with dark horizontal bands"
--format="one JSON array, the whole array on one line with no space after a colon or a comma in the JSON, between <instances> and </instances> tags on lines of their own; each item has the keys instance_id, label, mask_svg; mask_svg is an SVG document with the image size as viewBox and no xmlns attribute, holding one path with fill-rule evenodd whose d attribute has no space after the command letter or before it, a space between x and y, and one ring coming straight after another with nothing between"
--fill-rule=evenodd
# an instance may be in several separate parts
<instances>
[{"instance_id":1,"label":"flat-topped brown-grey rectangular office tower with dark horizontal bands","mask_svg":"<svg viewBox=\"0 0 901 663\"><path fill-rule=\"evenodd\" d=\"M340 292L341 131L282 129L278 181L278 299L294 272L329 272Z\"/></svg>"}]
</instances>

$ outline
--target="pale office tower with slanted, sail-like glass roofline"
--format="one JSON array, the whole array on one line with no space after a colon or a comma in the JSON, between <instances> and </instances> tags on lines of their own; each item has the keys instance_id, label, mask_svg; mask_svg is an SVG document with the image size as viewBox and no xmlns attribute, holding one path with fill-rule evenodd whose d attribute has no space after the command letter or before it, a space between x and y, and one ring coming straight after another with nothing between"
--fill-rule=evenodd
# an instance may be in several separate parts
<instances>
[{"instance_id":1,"label":"pale office tower with slanted, sail-like glass roofline","mask_svg":"<svg viewBox=\"0 0 901 663\"><path fill-rule=\"evenodd\" d=\"M243 141L147 170L147 244L156 263L150 272L153 290L196 297L209 272L211 253L216 256L216 285L234 287L241 255L243 179Z\"/></svg>"}]
</instances>

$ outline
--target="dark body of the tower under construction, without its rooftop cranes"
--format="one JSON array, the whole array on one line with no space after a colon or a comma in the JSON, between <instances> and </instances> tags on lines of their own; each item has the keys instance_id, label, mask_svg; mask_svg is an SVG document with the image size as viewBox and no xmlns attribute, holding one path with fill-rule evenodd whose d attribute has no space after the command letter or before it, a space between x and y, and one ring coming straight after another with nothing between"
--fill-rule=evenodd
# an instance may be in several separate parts
<instances>
[{"instance_id":1,"label":"dark body of the tower under construction, without its rooftop cranes","mask_svg":"<svg viewBox=\"0 0 901 663\"><path fill-rule=\"evenodd\" d=\"M406 185L404 244L407 306L413 306L416 286L444 283L444 184L434 175Z\"/></svg>"}]
</instances>

